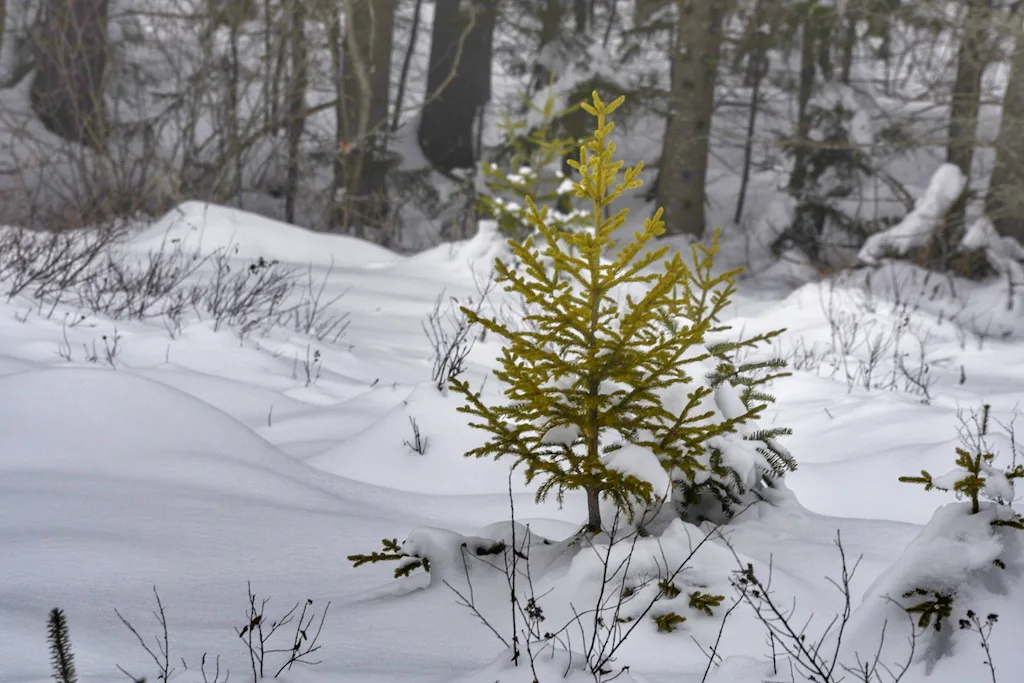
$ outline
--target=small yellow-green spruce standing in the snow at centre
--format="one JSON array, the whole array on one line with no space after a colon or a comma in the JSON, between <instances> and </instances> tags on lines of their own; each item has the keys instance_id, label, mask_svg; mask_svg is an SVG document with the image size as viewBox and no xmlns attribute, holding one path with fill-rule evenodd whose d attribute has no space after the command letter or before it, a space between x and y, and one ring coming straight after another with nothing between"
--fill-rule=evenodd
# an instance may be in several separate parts
<instances>
[{"instance_id":1,"label":"small yellow-green spruce standing in the snow at centre","mask_svg":"<svg viewBox=\"0 0 1024 683\"><path fill-rule=\"evenodd\" d=\"M764 408L741 404L721 420L711 419L716 413L708 401L717 397L715 387L687 373L714 361L702 346L705 336L720 329L717 321L739 272L713 274L717 239L711 248L693 248L692 266L676 254L665 260L663 272L653 272L651 266L669 248L642 252L665 231L659 210L615 253L612 234L629 212L606 217L607 209L641 184L643 168L624 171L614 158L614 124L608 115L623 100L606 104L595 91L593 102L583 103L597 119L596 131L570 165L582 176L572 187L590 205L589 227L559 229L548 208L527 197L526 217L537 237L510 242L518 267L496 262L496 281L521 296L531 311L528 329L512 331L463 309L471 322L505 341L495 375L506 385L509 401L486 405L467 382L452 382L466 399L459 410L476 419L472 426L490 434L466 455L513 457L527 481L541 481L538 500L552 492L559 500L566 490L586 492L592 532L602 528L602 498L632 520L637 502L649 505L668 494L655 489L650 479L656 477L609 462L628 444L639 446L631 456L647 454L677 484L710 476L725 479L722 488L742 488L748 473L733 471L721 453L716 461L708 442L735 432ZM543 240L543 249L536 240ZM695 386L680 393L687 384ZM792 469L792 461L780 469ZM698 476L701 472L707 474Z\"/></svg>"}]
</instances>

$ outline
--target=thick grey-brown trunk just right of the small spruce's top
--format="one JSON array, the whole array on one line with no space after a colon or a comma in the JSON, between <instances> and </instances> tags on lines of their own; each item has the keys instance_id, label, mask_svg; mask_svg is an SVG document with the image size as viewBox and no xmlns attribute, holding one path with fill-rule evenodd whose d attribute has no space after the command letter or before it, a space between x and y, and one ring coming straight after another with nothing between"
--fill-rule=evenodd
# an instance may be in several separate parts
<instances>
[{"instance_id":1,"label":"thick grey-brown trunk just right of the small spruce's top","mask_svg":"<svg viewBox=\"0 0 1024 683\"><path fill-rule=\"evenodd\" d=\"M671 113L662 147L657 203L665 208L669 234L700 238L722 23L728 3L679 0L678 4Z\"/></svg>"}]
</instances>

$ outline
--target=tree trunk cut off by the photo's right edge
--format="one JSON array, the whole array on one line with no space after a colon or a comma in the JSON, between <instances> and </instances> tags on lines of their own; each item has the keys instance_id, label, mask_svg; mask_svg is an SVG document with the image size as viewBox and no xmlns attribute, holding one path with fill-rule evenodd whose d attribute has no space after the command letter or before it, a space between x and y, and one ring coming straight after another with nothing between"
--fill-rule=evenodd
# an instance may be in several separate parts
<instances>
[{"instance_id":1,"label":"tree trunk cut off by the photo's right edge","mask_svg":"<svg viewBox=\"0 0 1024 683\"><path fill-rule=\"evenodd\" d=\"M1020 19L1018 19L1018 25ZM1018 28L1020 28L1018 26ZM1010 81L995 139L995 166L985 213L999 234L1024 244L1024 33L1010 58Z\"/></svg>"}]
</instances>

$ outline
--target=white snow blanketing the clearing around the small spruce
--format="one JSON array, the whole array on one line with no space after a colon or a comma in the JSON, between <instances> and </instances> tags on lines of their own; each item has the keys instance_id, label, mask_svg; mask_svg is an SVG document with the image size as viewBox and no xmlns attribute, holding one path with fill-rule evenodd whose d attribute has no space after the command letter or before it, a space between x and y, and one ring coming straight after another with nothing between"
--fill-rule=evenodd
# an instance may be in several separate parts
<instances>
[{"instance_id":1,"label":"white snow blanketing the clearing around the small spruce","mask_svg":"<svg viewBox=\"0 0 1024 683\"><path fill-rule=\"evenodd\" d=\"M297 666L283 679L531 680L528 671L510 669L498 638L438 581L428 585L422 572L393 580L392 567L353 569L346 559L419 527L499 538L510 518L511 486L516 520L554 542L537 554L544 562L538 581L551 590L550 622L569 602L586 605L593 597L593 559L586 552L559 555L562 540L585 519L585 500L570 495L561 509L554 501L538 505L523 481L510 483L506 463L463 458L482 437L456 413L459 399L441 395L431 381L425 316L442 293L477 296L501 245L477 239L400 257L349 238L191 204L141 230L124 258L168 244L204 253L228 248L237 268L265 256L308 271L325 283L325 301L343 294L332 309L349 314L348 327L323 340L294 326L240 337L209 316L185 315L177 329L161 316L112 321L69 303L40 306L26 295L0 302L0 683L49 680L46 617L53 607L67 612L83 683L123 680L118 666L157 679L153 660L115 612L159 654L154 588L166 609L172 681L202 680L197 668L204 652L208 671L220 655L230 680L252 679L236 634L248 624L249 582L257 605L270 598L267 618L311 600L310 634L330 602L323 647L310 657L323 664ZM787 477L792 496L741 515L728 527L730 542L759 575L767 578L771 564L778 602L793 601L798 628L814 615L809 637L815 639L843 610L843 596L829 584L841 571L837 532L851 566L862 557L850 582L848 666L855 666L855 653L874 654L869 648L878 646L888 606L879 596L921 575L914 562L928 555L904 556L911 543L944 559L946 575L967 572L965 585L976 583L971 572L982 571L971 564L982 560L970 538L959 546L914 542L953 497L926 494L897 477L952 467L958 410L988 403L993 417L1008 422L1024 396L1024 318L1005 310L998 286L968 291L957 284L957 302L947 296L948 281L924 282L921 273L885 263L871 272L870 288L861 274L778 297L763 282L744 283L730 322L744 335L788 329L775 350L796 368L773 386L777 402L766 422L794 430L785 445L800 464ZM494 367L497 349L489 338L474 346L473 382ZM903 358L900 367L894 369L893 357ZM411 420L427 439L422 455L407 444L415 440ZM991 442L1001 464L1021 449L1008 439ZM943 514L955 517L956 508ZM662 537L664 547L639 543L637 561L656 565L659 553L674 557L687 537L699 533L677 523ZM444 539L436 530L417 538ZM1024 671L1024 582L1013 552L1002 556L1011 564L1002 594L970 593L979 614L999 614L990 645L1004 682ZM434 574L445 575L443 569ZM726 596L718 616L688 614L668 634L639 622L616 660L630 666L623 680L700 681L703 652L735 599L729 585L735 569L720 542L703 547L686 581ZM507 633L504 575L475 577L474 585L481 612ZM906 642L896 625L889 629L885 664L898 665ZM289 647L293 630L294 624L286 627L271 646ZM925 656L903 680L988 680L977 636L952 636L953 655L930 677ZM919 645L919 653L928 649ZM708 680L791 680L781 664L773 673L772 650L750 607L740 605ZM267 655L268 677L282 656ZM543 663L542 683L572 664Z\"/></svg>"}]
</instances>

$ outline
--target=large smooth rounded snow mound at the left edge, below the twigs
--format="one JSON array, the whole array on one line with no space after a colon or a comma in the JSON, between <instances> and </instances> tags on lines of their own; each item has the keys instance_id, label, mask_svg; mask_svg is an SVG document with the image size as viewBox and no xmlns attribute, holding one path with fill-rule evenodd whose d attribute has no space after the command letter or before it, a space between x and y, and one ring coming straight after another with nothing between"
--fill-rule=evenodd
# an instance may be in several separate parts
<instances>
[{"instance_id":1,"label":"large smooth rounded snow mound at the left edge, below the twigs","mask_svg":"<svg viewBox=\"0 0 1024 683\"><path fill-rule=\"evenodd\" d=\"M92 369L0 378L0 472L181 484L267 502L336 501L329 478L234 418L157 382Z\"/></svg>"}]
</instances>

